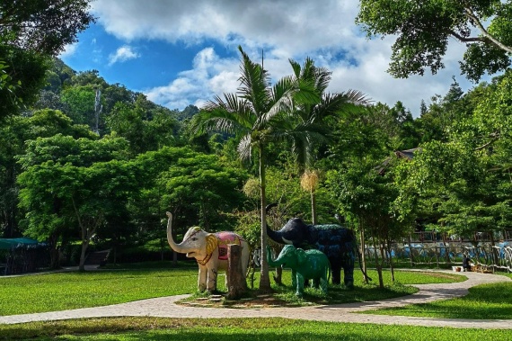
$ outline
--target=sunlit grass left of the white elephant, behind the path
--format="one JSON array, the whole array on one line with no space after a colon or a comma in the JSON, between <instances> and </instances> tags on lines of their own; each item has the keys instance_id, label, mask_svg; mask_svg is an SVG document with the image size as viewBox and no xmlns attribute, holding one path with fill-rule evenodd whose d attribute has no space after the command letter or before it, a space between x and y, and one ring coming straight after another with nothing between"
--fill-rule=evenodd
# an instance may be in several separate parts
<instances>
[{"instance_id":1,"label":"sunlit grass left of the white elephant, behind the path","mask_svg":"<svg viewBox=\"0 0 512 341\"><path fill-rule=\"evenodd\" d=\"M69 310L193 292L195 269L105 270L0 277L0 315Z\"/></svg>"}]
</instances>

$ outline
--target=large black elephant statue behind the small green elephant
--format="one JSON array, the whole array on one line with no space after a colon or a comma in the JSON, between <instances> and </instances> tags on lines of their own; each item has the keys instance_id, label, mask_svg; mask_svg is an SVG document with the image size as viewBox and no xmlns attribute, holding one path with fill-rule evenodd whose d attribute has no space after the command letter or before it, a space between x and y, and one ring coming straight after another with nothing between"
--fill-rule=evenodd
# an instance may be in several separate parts
<instances>
[{"instance_id":1,"label":"large black elephant statue behind the small green elephant","mask_svg":"<svg viewBox=\"0 0 512 341\"><path fill-rule=\"evenodd\" d=\"M343 283L349 288L354 286L354 263L356 256L360 254L357 240L351 229L338 224L307 225L300 218L292 218L278 231L269 229L267 226L267 235L280 244L322 251L331 263L332 283L341 283L341 268L343 268ZM372 280L362 267L361 271L368 280Z\"/></svg>"}]
</instances>

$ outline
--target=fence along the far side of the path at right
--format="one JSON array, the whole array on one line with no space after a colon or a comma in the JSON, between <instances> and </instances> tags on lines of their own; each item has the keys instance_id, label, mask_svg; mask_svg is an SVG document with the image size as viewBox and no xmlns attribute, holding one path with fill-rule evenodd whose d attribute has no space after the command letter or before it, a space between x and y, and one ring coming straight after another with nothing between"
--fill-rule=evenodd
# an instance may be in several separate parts
<instances>
[{"instance_id":1,"label":"fence along the far side of the path at right","mask_svg":"<svg viewBox=\"0 0 512 341\"><path fill-rule=\"evenodd\" d=\"M512 242L500 242L491 245L490 242L480 242L475 247L472 243L394 243L385 254L386 260L393 262L409 262L410 265L460 265L463 255L472 259L475 265L493 269L504 269L512 272ZM377 250L377 256L380 257ZM366 247L365 257L375 261L374 247Z\"/></svg>"}]
</instances>

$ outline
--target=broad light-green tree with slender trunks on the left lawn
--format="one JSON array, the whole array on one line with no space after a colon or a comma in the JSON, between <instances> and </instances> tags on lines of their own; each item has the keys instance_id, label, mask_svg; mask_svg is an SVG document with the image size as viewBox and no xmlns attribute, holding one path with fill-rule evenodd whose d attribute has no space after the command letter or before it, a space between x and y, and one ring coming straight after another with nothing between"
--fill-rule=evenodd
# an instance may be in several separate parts
<instances>
[{"instance_id":1,"label":"broad light-green tree with slender trunks on the left lawn","mask_svg":"<svg viewBox=\"0 0 512 341\"><path fill-rule=\"evenodd\" d=\"M84 270L85 252L107 217L123 211L136 190L135 168L121 156L124 139L73 139L56 135L28 143L20 157L20 205L26 211L25 233L47 239L58 266L57 243L73 226L80 230ZM124 210L126 211L126 210Z\"/></svg>"}]
</instances>

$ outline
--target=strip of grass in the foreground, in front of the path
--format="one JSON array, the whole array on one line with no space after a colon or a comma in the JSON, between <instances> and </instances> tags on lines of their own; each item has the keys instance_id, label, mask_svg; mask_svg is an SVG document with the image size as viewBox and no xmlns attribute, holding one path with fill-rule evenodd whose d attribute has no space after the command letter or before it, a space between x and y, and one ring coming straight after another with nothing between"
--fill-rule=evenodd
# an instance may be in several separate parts
<instances>
[{"instance_id":1,"label":"strip of grass in the foreground, in front of the path","mask_svg":"<svg viewBox=\"0 0 512 341\"><path fill-rule=\"evenodd\" d=\"M111 318L0 325L0 340L510 340L512 330L401 327L294 319Z\"/></svg>"}]
</instances>

